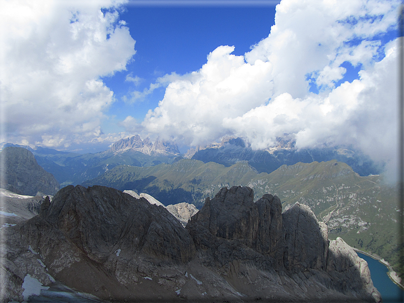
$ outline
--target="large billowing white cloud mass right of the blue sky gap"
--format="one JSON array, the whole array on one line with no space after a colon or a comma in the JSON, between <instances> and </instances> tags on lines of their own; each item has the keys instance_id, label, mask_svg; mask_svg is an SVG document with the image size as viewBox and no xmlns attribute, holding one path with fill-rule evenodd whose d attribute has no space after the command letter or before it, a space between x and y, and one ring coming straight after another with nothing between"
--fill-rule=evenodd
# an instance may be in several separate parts
<instances>
[{"instance_id":1,"label":"large billowing white cloud mass right of the blue sky gap","mask_svg":"<svg viewBox=\"0 0 404 303\"><path fill-rule=\"evenodd\" d=\"M216 48L167 86L138 130L190 145L243 136L260 149L289 134L298 148L353 145L394 166L398 50L386 35L398 4L282 0L267 38L244 56ZM360 68L356 80L344 81L347 64Z\"/></svg>"}]
</instances>

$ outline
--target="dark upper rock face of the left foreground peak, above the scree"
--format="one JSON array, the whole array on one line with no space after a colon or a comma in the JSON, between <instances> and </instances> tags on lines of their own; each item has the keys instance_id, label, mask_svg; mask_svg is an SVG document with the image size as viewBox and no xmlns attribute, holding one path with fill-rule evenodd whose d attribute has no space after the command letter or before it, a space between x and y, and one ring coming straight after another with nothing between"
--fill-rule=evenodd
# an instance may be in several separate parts
<instances>
[{"instance_id":1,"label":"dark upper rock face of the left foreground peak, above the scree","mask_svg":"<svg viewBox=\"0 0 404 303\"><path fill-rule=\"evenodd\" d=\"M100 263L117 249L175 262L187 262L194 255L192 239L166 209L111 188L65 187L47 209L41 209L38 220L54 226Z\"/></svg>"}]
</instances>

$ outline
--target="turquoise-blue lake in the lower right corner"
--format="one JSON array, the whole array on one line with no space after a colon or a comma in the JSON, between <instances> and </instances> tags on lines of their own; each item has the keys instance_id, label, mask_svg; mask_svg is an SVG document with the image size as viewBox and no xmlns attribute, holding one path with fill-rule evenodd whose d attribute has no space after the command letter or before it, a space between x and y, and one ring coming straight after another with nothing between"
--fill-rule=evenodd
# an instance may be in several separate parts
<instances>
[{"instance_id":1,"label":"turquoise-blue lake in the lower right corner","mask_svg":"<svg viewBox=\"0 0 404 303\"><path fill-rule=\"evenodd\" d=\"M370 269L370 276L376 287L382 295L383 302L385 303L402 303L404 291L401 290L387 275L389 269L387 266L380 263L369 256L358 253L358 256L365 260Z\"/></svg>"}]
</instances>

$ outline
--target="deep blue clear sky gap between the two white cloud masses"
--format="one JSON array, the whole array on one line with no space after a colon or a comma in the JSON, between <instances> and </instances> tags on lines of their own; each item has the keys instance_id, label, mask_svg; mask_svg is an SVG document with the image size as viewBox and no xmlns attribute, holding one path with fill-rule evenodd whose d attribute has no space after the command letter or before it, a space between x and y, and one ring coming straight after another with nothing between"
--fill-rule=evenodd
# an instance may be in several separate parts
<instances>
[{"instance_id":1,"label":"deep blue clear sky gap between the two white cloud masses","mask_svg":"<svg viewBox=\"0 0 404 303\"><path fill-rule=\"evenodd\" d=\"M136 54L126 71L102 78L118 100L109 110L116 118L104 122L104 132L124 131L116 120L124 120L128 111L141 121L163 99L165 87L132 104L125 103L132 90L142 92L165 74L182 75L200 69L207 55L220 45L234 45L233 54L244 55L268 36L274 24L275 6L275 2L255 6L126 5L121 18L136 40ZM139 77L139 81L125 81L128 74Z\"/></svg>"}]
</instances>

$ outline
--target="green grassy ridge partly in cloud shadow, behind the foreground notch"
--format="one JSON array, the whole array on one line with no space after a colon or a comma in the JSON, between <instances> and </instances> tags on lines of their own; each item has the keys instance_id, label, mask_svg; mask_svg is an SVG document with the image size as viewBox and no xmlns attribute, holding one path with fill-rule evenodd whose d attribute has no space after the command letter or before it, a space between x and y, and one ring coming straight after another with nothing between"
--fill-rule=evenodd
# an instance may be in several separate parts
<instances>
[{"instance_id":1,"label":"green grassy ridge partly in cloud shadow, behind the foreground notch","mask_svg":"<svg viewBox=\"0 0 404 303\"><path fill-rule=\"evenodd\" d=\"M225 167L182 159L150 167L117 166L82 185L135 190L148 193L165 205L188 202L201 207L207 196L214 196L222 187L246 184L256 175L255 169L245 162Z\"/></svg>"}]
</instances>

